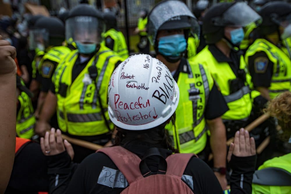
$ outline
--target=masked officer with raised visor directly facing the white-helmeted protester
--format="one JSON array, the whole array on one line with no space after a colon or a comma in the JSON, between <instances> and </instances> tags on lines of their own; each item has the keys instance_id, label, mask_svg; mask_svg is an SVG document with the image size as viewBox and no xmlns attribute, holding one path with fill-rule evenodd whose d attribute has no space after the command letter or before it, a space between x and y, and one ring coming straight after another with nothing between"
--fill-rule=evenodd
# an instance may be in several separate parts
<instances>
[{"instance_id":1,"label":"masked officer with raised visor directly facing the white-helmeted protester","mask_svg":"<svg viewBox=\"0 0 291 194\"><path fill-rule=\"evenodd\" d=\"M207 68L203 65L191 65L183 57L189 30L193 29L194 23L198 31L195 16L183 2L162 1L149 13L148 37L155 48L157 58L169 68L180 90L175 127L170 125L166 127L173 145L181 153L196 153L205 161L208 160L206 146L206 125L208 125L214 167L221 172L215 173L225 188L226 132L220 117L228 107ZM152 82L160 82L159 79L159 74L154 75ZM171 97L167 90L168 88L157 90L154 96L164 102Z\"/></svg>"}]
</instances>

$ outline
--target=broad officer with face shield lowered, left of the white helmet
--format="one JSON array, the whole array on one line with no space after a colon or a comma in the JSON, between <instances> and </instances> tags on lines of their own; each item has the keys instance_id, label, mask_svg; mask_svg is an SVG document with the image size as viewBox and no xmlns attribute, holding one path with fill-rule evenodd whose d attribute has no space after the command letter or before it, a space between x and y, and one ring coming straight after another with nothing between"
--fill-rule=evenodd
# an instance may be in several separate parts
<instances>
[{"instance_id":1,"label":"broad officer with face shield lowered, left of the white helmet","mask_svg":"<svg viewBox=\"0 0 291 194\"><path fill-rule=\"evenodd\" d=\"M67 135L104 145L113 124L107 113L107 87L110 76L123 58L102 42L103 15L92 6L81 4L66 20L66 39L72 38L77 50L58 65L39 122L44 135L51 115L57 111L58 125ZM75 161L82 161L92 150L74 146Z\"/></svg>"}]
</instances>

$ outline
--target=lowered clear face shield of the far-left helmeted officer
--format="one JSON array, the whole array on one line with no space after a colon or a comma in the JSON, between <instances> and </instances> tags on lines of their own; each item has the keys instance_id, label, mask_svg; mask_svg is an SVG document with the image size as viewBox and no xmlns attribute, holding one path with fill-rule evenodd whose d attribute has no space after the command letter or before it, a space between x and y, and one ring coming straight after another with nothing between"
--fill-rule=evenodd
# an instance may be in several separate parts
<instances>
[{"instance_id":1,"label":"lowered clear face shield of the far-left helmeted officer","mask_svg":"<svg viewBox=\"0 0 291 194\"><path fill-rule=\"evenodd\" d=\"M29 31L29 49L44 51L49 45L49 32L46 29L31 29Z\"/></svg>"}]
</instances>

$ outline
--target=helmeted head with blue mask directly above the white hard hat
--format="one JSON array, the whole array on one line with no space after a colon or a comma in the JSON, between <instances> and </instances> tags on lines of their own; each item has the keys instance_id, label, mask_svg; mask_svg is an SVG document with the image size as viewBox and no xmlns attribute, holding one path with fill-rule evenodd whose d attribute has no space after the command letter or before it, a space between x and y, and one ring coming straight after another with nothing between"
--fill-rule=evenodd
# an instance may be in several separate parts
<instances>
[{"instance_id":1,"label":"helmeted head with blue mask directly above the white hard hat","mask_svg":"<svg viewBox=\"0 0 291 194\"><path fill-rule=\"evenodd\" d=\"M189 33L199 34L196 17L182 1L158 3L148 15L148 38L157 57L170 63L178 62L187 49ZM199 37L199 35L198 35Z\"/></svg>"}]
</instances>

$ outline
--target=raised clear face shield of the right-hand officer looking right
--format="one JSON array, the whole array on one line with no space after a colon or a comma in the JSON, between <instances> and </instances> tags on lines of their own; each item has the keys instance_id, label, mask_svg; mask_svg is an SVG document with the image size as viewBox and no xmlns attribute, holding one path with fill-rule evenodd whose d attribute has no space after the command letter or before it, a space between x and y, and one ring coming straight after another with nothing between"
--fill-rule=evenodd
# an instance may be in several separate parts
<instances>
[{"instance_id":1,"label":"raised clear face shield of the right-hand officer looking right","mask_svg":"<svg viewBox=\"0 0 291 194\"><path fill-rule=\"evenodd\" d=\"M253 22L261 24L262 17L245 2L234 3L221 17L214 19L214 25L222 27L246 27Z\"/></svg>"}]
</instances>

